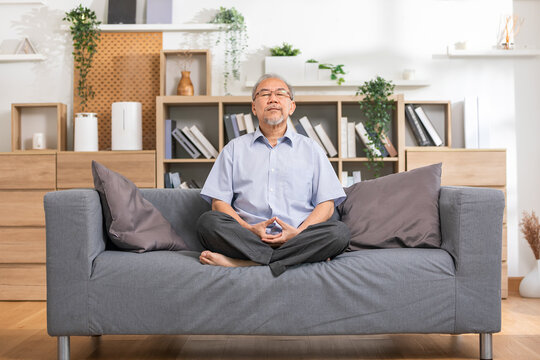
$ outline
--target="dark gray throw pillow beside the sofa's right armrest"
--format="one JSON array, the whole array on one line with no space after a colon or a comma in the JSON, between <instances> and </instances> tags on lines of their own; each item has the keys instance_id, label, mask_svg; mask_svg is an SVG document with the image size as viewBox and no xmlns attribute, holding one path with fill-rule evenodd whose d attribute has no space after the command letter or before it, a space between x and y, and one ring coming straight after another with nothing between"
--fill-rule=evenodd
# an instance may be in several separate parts
<instances>
[{"instance_id":1,"label":"dark gray throw pillow beside the sofa's right armrest","mask_svg":"<svg viewBox=\"0 0 540 360\"><path fill-rule=\"evenodd\" d=\"M441 166L356 183L338 206L351 231L350 250L441 246Z\"/></svg>"}]
</instances>

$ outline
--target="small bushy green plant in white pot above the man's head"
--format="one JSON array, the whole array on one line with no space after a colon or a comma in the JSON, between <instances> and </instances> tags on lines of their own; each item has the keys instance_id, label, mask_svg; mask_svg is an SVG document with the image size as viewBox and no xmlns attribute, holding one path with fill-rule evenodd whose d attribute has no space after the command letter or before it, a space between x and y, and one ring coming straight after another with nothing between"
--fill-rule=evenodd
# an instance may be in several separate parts
<instances>
[{"instance_id":1,"label":"small bushy green plant in white pot above the man's head","mask_svg":"<svg viewBox=\"0 0 540 360\"><path fill-rule=\"evenodd\" d=\"M300 49L286 42L274 46L270 49L271 56L264 60L264 72L281 75L289 82L304 80L304 60L298 56L300 53Z\"/></svg>"}]
</instances>

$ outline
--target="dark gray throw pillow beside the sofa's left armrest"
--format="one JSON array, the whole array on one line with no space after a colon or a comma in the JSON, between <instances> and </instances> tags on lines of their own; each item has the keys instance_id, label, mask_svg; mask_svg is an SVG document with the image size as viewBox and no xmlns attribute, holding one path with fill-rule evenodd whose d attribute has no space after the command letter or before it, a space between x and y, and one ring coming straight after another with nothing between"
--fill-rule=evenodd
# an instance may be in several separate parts
<instances>
[{"instance_id":1,"label":"dark gray throw pillow beside the sofa's left armrest","mask_svg":"<svg viewBox=\"0 0 540 360\"><path fill-rule=\"evenodd\" d=\"M137 186L122 175L92 161L94 187L99 193L109 238L121 250L187 250L171 224L144 199Z\"/></svg>"}]
</instances>

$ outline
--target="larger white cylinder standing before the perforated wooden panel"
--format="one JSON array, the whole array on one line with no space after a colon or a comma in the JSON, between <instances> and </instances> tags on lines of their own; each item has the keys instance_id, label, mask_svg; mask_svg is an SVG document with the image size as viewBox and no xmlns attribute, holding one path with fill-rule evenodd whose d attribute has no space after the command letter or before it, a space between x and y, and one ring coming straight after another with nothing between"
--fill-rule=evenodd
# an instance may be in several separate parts
<instances>
[{"instance_id":1,"label":"larger white cylinder standing before the perforated wooden panel","mask_svg":"<svg viewBox=\"0 0 540 360\"><path fill-rule=\"evenodd\" d=\"M142 105L139 102L112 104L112 150L142 150Z\"/></svg>"}]
</instances>

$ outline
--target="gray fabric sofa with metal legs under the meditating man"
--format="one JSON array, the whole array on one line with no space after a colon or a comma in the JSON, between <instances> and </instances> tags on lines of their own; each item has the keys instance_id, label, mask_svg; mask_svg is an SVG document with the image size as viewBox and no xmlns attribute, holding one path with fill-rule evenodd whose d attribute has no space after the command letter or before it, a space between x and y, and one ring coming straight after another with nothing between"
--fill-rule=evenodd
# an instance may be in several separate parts
<instances>
[{"instance_id":1,"label":"gray fabric sofa with metal legs under the meditating man","mask_svg":"<svg viewBox=\"0 0 540 360\"><path fill-rule=\"evenodd\" d=\"M349 252L278 278L266 266L199 263L195 223L209 205L198 190L142 193L196 251L108 250L96 191L45 196L47 329L61 359L78 335L378 333L478 333L480 357L491 358L501 191L442 187L441 249Z\"/></svg>"}]
</instances>

